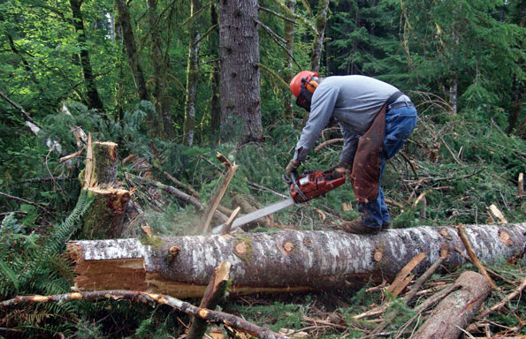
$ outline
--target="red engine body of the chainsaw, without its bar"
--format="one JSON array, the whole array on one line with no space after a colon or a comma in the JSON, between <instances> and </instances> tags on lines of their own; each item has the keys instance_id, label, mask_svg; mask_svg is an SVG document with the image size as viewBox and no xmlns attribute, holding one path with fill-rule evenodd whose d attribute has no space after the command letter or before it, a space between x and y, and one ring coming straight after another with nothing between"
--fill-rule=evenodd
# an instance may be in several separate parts
<instances>
[{"instance_id":1,"label":"red engine body of the chainsaw, without its bar","mask_svg":"<svg viewBox=\"0 0 526 339\"><path fill-rule=\"evenodd\" d=\"M290 185L291 197L297 203L306 202L345 184L345 175L332 177L332 173L324 173L315 169L296 177L296 184L307 200L301 197L294 184Z\"/></svg>"}]
</instances>

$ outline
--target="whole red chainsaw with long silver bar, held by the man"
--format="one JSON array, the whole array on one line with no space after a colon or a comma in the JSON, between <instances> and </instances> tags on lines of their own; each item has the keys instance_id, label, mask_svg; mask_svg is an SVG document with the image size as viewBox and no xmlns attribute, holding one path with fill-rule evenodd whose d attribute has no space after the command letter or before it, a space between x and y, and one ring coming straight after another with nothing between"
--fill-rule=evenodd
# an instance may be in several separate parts
<instances>
[{"instance_id":1,"label":"whole red chainsaw with long silver bar, held by the man","mask_svg":"<svg viewBox=\"0 0 526 339\"><path fill-rule=\"evenodd\" d=\"M276 213L286 207L313 200L320 195L330 192L336 187L345 184L345 175L334 175L332 172L323 172L315 169L299 176L291 173L290 179L284 175L283 180L287 185L290 185L290 198L275 202L267 207L248 213L248 215L240 216L233 221L231 230ZM220 233L223 226L224 224L212 229L212 234Z\"/></svg>"}]
</instances>

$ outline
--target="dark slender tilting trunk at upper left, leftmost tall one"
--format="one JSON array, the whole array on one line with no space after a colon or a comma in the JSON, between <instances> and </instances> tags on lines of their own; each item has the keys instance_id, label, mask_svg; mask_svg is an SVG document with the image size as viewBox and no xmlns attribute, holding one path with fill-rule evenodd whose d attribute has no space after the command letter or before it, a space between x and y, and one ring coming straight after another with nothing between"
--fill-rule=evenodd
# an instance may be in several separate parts
<instances>
[{"instance_id":1,"label":"dark slender tilting trunk at upper left, leftmost tall one","mask_svg":"<svg viewBox=\"0 0 526 339\"><path fill-rule=\"evenodd\" d=\"M79 34L79 43L81 45L87 42L86 31L84 29L84 19L80 6L82 0L70 0L70 5L73 14L73 26L75 31ZM88 93L88 106L92 109L98 109L101 112L104 111L103 101L97 92L95 85L95 77L93 75L93 69L91 68L91 62L89 61L88 47L81 46L80 49L80 64L82 65L82 73L84 74L84 81L86 81L86 91Z\"/></svg>"}]
</instances>

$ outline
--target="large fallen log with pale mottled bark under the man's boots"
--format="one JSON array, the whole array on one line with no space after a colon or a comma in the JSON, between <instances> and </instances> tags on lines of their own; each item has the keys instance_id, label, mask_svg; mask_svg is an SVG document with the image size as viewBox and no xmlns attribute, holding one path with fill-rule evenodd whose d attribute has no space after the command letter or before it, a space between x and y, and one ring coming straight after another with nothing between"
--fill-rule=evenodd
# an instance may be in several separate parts
<instances>
[{"instance_id":1,"label":"large fallen log with pale mottled bark under the man's boots","mask_svg":"<svg viewBox=\"0 0 526 339\"><path fill-rule=\"evenodd\" d=\"M521 252L526 223L465 226L480 260L492 263ZM143 244L144 243L144 244ZM454 227L421 226L358 236L343 231L243 233L225 236L152 237L72 241L80 290L148 290L177 298L202 297L215 267L232 263L233 294L361 287L393 279L416 254L422 273L445 247L461 246ZM179 248L178 251L171 249ZM467 260L449 251L444 265Z\"/></svg>"}]
</instances>

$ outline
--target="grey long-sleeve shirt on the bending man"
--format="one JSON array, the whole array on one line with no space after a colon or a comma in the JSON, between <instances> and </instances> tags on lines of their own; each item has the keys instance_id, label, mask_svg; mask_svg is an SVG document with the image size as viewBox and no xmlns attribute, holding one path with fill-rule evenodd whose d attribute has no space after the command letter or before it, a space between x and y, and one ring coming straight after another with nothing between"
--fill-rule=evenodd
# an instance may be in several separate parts
<instances>
[{"instance_id":1,"label":"grey long-sleeve shirt on the bending man","mask_svg":"<svg viewBox=\"0 0 526 339\"><path fill-rule=\"evenodd\" d=\"M323 79L312 96L309 120L296 144L294 159L303 162L331 117L339 122L344 139L340 163L351 163L358 140L391 94L398 88L362 75L334 76ZM406 95L397 100L409 101Z\"/></svg>"}]
</instances>

